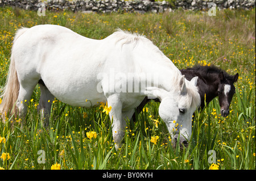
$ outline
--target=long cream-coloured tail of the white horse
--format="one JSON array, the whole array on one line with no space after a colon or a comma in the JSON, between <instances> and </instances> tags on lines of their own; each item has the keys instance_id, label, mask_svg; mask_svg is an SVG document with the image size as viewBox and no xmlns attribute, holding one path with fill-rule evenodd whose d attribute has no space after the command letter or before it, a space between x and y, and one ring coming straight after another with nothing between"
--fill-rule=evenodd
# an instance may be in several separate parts
<instances>
[{"instance_id":1,"label":"long cream-coloured tail of the white horse","mask_svg":"<svg viewBox=\"0 0 256 181\"><path fill-rule=\"evenodd\" d=\"M20 35L22 35L27 28L22 28L16 32L16 35L14 37L13 45L15 44L15 41L18 39ZM13 113L16 114L16 108L15 103L18 99L19 95L19 80L18 80L18 74L15 68L15 61L13 56L13 50L11 53L11 61L9 66L9 71L7 74L7 81L6 85L3 88L3 91L0 95L1 104L0 104L0 117L5 117L5 115L11 111L10 113L13 115Z\"/></svg>"}]
</instances>

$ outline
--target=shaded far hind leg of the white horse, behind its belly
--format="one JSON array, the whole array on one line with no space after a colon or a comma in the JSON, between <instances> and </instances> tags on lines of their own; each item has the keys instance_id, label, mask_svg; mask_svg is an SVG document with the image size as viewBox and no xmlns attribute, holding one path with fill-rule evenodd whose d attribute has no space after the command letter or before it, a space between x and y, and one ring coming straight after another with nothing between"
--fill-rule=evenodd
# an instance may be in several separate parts
<instances>
[{"instance_id":1,"label":"shaded far hind leg of the white horse, behind its belly","mask_svg":"<svg viewBox=\"0 0 256 181\"><path fill-rule=\"evenodd\" d=\"M39 86L41 90L41 96L39 100L39 110L42 117L44 127L49 125L49 116L51 115L51 106L54 96L49 92L46 85L43 82L39 81Z\"/></svg>"}]
</instances>

